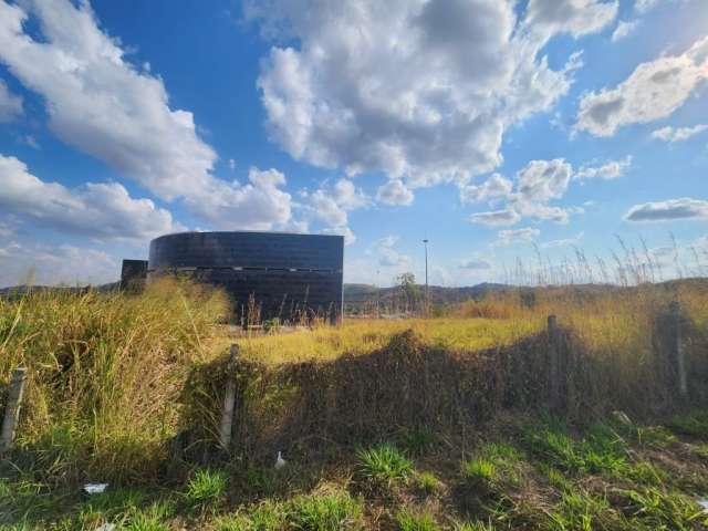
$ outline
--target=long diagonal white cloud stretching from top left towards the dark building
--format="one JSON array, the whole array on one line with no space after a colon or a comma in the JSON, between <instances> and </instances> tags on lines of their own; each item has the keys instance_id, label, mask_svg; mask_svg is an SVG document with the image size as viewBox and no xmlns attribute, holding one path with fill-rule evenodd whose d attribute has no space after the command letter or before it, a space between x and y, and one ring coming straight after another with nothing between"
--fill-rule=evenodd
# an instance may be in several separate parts
<instances>
[{"instance_id":1,"label":"long diagonal white cloud stretching from top left towards the dark building","mask_svg":"<svg viewBox=\"0 0 708 531\"><path fill-rule=\"evenodd\" d=\"M28 30L35 21L41 38ZM163 80L136 67L87 2L0 0L0 62L45 102L50 129L157 197L184 198L219 228L271 228L290 221L290 196L275 170L249 183L216 178L214 148L189 111L173 108Z\"/></svg>"}]
</instances>

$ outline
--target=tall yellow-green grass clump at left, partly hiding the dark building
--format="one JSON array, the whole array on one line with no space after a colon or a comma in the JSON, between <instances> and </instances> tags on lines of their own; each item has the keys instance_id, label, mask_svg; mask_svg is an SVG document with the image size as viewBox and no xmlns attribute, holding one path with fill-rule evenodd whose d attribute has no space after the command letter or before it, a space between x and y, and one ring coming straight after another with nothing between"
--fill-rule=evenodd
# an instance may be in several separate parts
<instances>
[{"instance_id":1,"label":"tall yellow-green grass clump at left, partly hiding the dark building","mask_svg":"<svg viewBox=\"0 0 708 531\"><path fill-rule=\"evenodd\" d=\"M69 480L154 475L189 367L209 356L227 312L221 292L169 279L138 296L31 290L0 300L0 382L28 367L20 459Z\"/></svg>"}]
</instances>

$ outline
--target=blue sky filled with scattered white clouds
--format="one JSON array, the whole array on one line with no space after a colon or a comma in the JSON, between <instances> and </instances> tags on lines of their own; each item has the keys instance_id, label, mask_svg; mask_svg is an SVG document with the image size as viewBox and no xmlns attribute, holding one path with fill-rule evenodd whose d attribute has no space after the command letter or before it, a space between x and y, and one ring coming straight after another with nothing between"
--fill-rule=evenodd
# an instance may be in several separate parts
<instances>
[{"instance_id":1,"label":"blue sky filled with scattered white clouds","mask_svg":"<svg viewBox=\"0 0 708 531\"><path fill-rule=\"evenodd\" d=\"M378 285L424 239L440 285L708 274L707 79L706 0L0 0L0 285L186 230L344 235Z\"/></svg>"}]
</instances>

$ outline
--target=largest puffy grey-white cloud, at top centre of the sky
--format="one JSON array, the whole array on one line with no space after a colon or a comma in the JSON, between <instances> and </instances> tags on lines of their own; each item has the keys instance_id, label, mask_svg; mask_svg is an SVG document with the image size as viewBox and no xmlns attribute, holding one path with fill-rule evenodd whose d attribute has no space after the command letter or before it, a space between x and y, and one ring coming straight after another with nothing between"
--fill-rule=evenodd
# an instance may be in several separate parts
<instances>
[{"instance_id":1,"label":"largest puffy grey-white cloud, at top centre of the sky","mask_svg":"<svg viewBox=\"0 0 708 531\"><path fill-rule=\"evenodd\" d=\"M493 170L507 127L549 111L580 65L572 55L552 70L548 40L598 31L615 13L595 0L532 0L525 13L500 0L247 7L279 42L258 81L272 138L299 160L409 188Z\"/></svg>"}]
</instances>

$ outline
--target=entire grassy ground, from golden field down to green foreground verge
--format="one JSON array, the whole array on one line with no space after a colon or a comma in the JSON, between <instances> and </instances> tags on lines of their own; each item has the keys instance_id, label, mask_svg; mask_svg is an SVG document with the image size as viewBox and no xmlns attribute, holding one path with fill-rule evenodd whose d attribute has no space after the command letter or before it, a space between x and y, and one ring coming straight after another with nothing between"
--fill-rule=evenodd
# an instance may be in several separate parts
<instances>
[{"instance_id":1,"label":"entire grassy ground, from golden field down to green foreground verge","mask_svg":"<svg viewBox=\"0 0 708 531\"><path fill-rule=\"evenodd\" d=\"M683 400L657 334L674 300ZM554 415L549 314L574 360ZM17 447L0 465L0 529L708 525L702 282L510 291L437 317L267 335L235 334L227 315L220 292L173 281L139 296L0 300L0 385L29 369ZM215 437L233 342L225 454ZM110 487L82 494L86 481Z\"/></svg>"}]
</instances>

